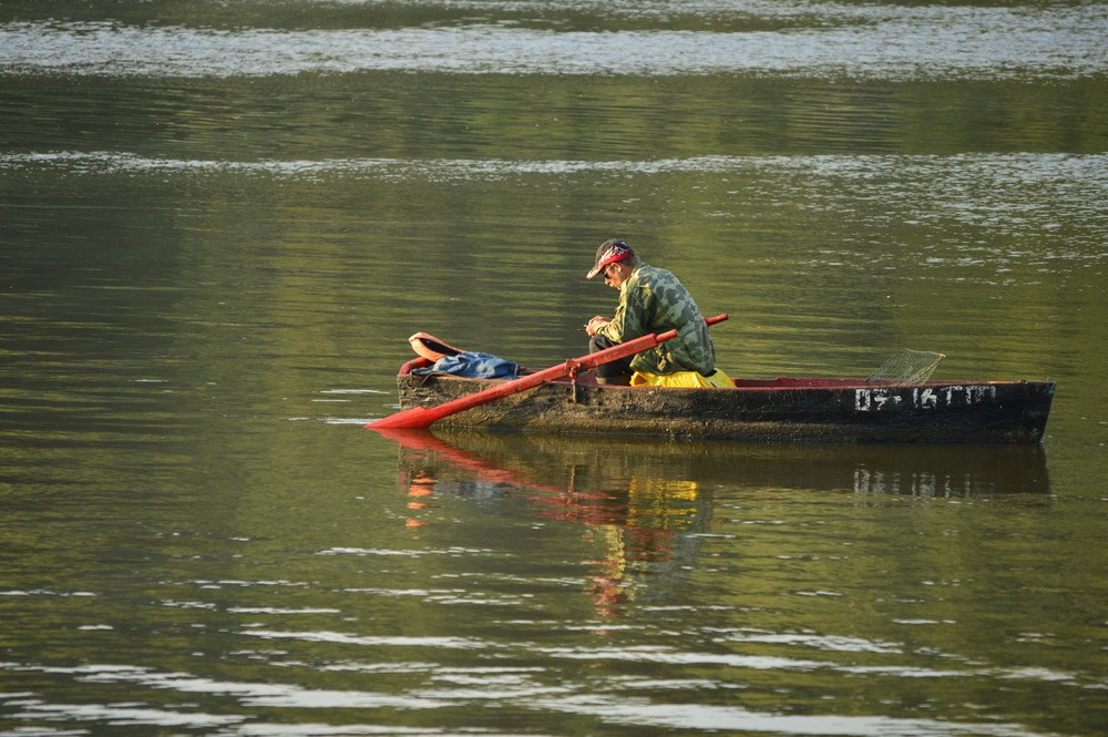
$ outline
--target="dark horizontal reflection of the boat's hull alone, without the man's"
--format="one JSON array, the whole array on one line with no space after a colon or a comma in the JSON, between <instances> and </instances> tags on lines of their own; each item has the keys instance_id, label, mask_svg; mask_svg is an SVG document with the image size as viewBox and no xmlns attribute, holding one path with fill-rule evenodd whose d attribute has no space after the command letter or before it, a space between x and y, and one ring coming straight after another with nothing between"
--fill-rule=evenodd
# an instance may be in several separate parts
<instances>
[{"instance_id":1,"label":"dark horizontal reflection of the boat's hull alone, without the man's","mask_svg":"<svg viewBox=\"0 0 1108 737\"><path fill-rule=\"evenodd\" d=\"M464 480L594 501L675 484L968 498L1044 495L1050 485L1046 453L1035 444L761 444L440 429L382 434L400 443L400 472L410 483ZM574 514L584 522L605 519L603 509L563 516Z\"/></svg>"}]
</instances>

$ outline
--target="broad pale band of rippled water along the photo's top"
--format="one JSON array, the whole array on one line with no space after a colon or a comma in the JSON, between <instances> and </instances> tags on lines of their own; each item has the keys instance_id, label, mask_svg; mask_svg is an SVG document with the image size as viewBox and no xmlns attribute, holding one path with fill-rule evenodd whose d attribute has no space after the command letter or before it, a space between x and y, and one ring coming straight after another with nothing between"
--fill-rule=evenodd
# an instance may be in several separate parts
<instances>
[{"instance_id":1,"label":"broad pale band of rippled water along the photo's top","mask_svg":"<svg viewBox=\"0 0 1108 737\"><path fill-rule=\"evenodd\" d=\"M605 53L596 53L602 47ZM0 71L229 78L366 71L712 74L860 79L1074 79L1108 71L1101 6L929 8L861 22L714 32L499 24L408 29L196 29L115 22L0 25Z\"/></svg>"}]
</instances>

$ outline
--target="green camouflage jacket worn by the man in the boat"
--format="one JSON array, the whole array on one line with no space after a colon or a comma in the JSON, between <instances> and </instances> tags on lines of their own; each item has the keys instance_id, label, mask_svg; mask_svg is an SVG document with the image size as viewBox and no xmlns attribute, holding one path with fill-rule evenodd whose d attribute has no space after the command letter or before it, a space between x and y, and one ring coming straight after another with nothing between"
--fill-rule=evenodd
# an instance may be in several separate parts
<instances>
[{"instance_id":1,"label":"green camouflage jacket worn by the man in the boat","mask_svg":"<svg viewBox=\"0 0 1108 737\"><path fill-rule=\"evenodd\" d=\"M619 287L615 317L597 332L613 342L626 342L674 328L676 338L636 355L632 368L647 373L711 373L716 369L716 348L693 295L670 272L639 263Z\"/></svg>"}]
</instances>

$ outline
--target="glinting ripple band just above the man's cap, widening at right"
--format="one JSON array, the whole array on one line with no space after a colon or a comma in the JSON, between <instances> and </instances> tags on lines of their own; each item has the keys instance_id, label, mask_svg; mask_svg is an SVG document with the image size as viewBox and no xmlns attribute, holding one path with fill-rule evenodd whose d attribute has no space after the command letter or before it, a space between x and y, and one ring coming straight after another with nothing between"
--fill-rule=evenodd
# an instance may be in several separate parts
<instances>
[{"instance_id":1,"label":"glinting ripple band just above the man's cap, widening at right","mask_svg":"<svg viewBox=\"0 0 1108 737\"><path fill-rule=\"evenodd\" d=\"M1094 240L1108 227L1108 154L970 153L724 156L657 160L464 160L464 158L325 158L255 162L155 158L113 152L0 154L0 172L49 170L64 175L237 174L312 181L325 177L381 182L439 183L511 181L520 177L644 176L704 174L741 176L751 187L765 181L772 190L780 178L802 180L794 190L797 207L812 213L839 213L847 198L872 201L869 214L912 226L953 219L995 232L1065 233L1077 244L1088 231ZM815 186L819 183L820 186ZM849 193L845 194L845 193ZM729 193L737 197L735 193ZM1013 204L1018 203L1018 204ZM720 206L726 206L726 198ZM720 214L727 215L726 209ZM1074 232L1068 232L1074 231ZM972 257L964 250L960 257ZM1102 248L1077 247L1058 258L1101 259ZM994 254L983 258L992 259ZM934 262L934 265L940 265Z\"/></svg>"}]
</instances>

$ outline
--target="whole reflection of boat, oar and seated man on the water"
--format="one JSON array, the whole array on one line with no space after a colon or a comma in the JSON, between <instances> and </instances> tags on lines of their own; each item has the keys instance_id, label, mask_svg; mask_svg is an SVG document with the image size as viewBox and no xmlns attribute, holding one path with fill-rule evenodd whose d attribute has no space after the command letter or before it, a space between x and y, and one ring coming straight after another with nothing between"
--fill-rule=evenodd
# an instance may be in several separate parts
<instances>
[{"instance_id":1,"label":"whole reflection of boat, oar and seated man on the water","mask_svg":"<svg viewBox=\"0 0 1108 737\"><path fill-rule=\"evenodd\" d=\"M695 563L712 499L736 490L1048 501L1040 446L766 446L437 429L386 431L399 449L398 487L413 515L433 495L523 497L544 519L579 522L603 551L587 593L598 618L649 596L645 579ZM658 588L673 590L673 585Z\"/></svg>"}]
</instances>

